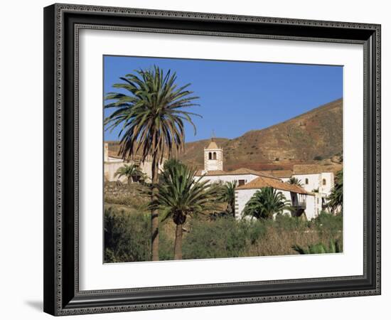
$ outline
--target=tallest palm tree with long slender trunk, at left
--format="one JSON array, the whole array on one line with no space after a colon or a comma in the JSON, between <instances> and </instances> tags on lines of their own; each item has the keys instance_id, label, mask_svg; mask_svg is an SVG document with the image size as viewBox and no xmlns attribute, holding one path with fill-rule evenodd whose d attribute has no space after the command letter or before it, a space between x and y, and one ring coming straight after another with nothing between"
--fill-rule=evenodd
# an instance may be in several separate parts
<instances>
[{"instance_id":1,"label":"tallest palm tree with long slender trunk, at left","mask_svg":"<svg viewBox=\"0 0 391 320\"><path fill-rule=\"evenodd\" d=\"M151 198L154 200L159 182L159 164L164 156L173 151L181 151L184 145L184 122L189 122L194 114L183 110L195 104L190 85L178 86L176 73L164 73L159 67L150 70L136 70L120 78L114 88L119 92L109 92L105 108L114 112L105 119L107 130L119 127L120 149L123 159L139 155L141 161L151 159ZM126 93L122 93L126 92ZM152 260L159 260L159 212L151 211L151 250Z\"/></svg>"}]
</instances>

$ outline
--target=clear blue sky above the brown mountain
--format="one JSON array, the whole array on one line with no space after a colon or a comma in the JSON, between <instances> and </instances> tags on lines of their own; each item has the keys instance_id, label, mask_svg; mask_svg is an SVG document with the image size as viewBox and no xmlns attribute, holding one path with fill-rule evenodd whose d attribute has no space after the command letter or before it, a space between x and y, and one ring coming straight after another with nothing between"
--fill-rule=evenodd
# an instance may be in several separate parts
<instances>
[{"instance_id":1,"label":"clear blue sky above the brown mountain","mask_svg":"<svg viewBox=\"0 0 391 320\"><path fill-rule=\"evenodd\" d=\"M200 106L187 108L197 134L186 125L186 142L215 137L233 139L252 129L283 122L343 95L343 67L171 58L104 57L104 94L116 91L119 77L158 65L175 71L178 85L200 97ZM112 110L105 110L105 116ZM118 130L105 140L118 140Z\"/></svg>"}]
</instances>

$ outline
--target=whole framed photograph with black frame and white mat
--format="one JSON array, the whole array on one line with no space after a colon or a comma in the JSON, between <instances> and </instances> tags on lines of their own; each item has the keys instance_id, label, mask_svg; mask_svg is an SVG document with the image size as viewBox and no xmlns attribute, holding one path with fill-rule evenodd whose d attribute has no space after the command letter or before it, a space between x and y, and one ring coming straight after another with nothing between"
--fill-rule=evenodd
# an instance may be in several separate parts
<instances>
[{"instance_id":1,"label":"whole framed photograph with black frame and white mat","mask_svg":"<svg viewBox=\"0 0 391 320\"><path fill-rule=\"evenodd\" d=\"M44 9L44 311L380 294L380 25Z\"/></svg>"}]
</instances>

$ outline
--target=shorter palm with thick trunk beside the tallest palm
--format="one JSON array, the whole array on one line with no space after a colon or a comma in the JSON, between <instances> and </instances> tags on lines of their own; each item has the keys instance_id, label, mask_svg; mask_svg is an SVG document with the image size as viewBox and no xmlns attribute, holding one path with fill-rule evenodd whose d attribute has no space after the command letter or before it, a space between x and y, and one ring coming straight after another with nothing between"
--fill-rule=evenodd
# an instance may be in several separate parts
<instances>
[{"instance_id":1,"label":"shorter palm with thick trunk beside the tallest palm","mask_svg":"<svg viewBox=\"0 0 391 320\"><path fill-rule=\"evenodd\" d=\"M176 224L174 259L182 259L183 224L188 216L208 214L218 206L220 188L203 177L195 178L195 170L186 165L169 166L158 185L159 192L151 201L152 210L161 210L161 221L172 218Z\"/></svg>"}]
</instances>

